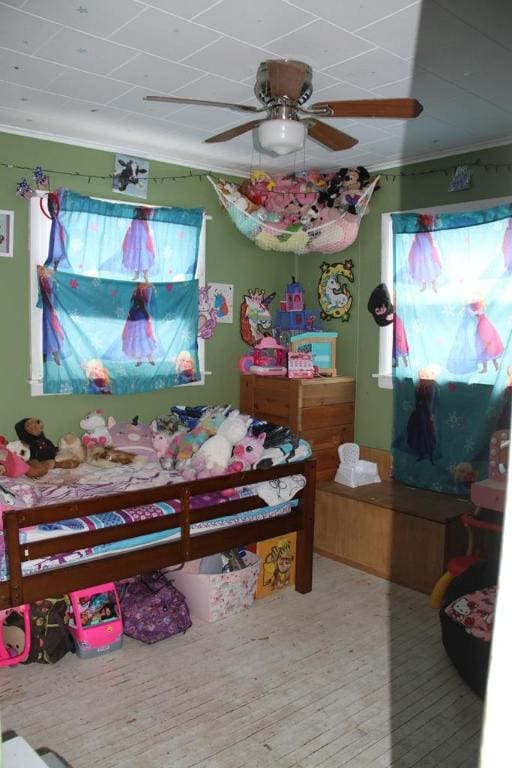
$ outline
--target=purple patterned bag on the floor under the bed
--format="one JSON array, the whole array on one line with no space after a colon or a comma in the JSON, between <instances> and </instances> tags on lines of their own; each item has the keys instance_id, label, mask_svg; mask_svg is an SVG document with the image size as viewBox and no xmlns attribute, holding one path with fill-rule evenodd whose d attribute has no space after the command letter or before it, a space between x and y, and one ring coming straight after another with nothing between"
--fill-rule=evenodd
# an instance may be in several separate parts
<instances>
[{"instance_id":1,"label":"purple patterned bag on the floor under the bed","mask_svg":"<svg viewBox=\"0 0 512 768\"><path fill-rule=\"evenodd\" d=\"M161 571L144 573L120 590L123 631L143 643L157 643L192 626L184 595Z\"/></svg>"}]
</instances>

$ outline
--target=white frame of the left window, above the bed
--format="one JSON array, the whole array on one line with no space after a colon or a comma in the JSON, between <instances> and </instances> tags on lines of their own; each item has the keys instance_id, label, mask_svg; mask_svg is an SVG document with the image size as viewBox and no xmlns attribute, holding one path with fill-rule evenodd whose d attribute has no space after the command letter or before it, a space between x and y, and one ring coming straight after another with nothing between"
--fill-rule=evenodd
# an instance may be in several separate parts
<instances>
[{"instance_id":1,"label":"white frame of the left window, above the bed","mask_svg":"<svg viewBox=\"0 0 512 768\"><path fill-rule=\"evenodd\" d=\"M40 199L44 192L37 192L29 200L29 269L30 269L30 394L32 397L46 396L50 393L43 392L43 310L37 307L39 287L37 282L36 267L44 264L48 258L48 246L50 242L51 221L44 216L40 209ZM105 199L105 198L97 198ZM108 203L121 203L120 200L106 200ZM146 205L146 208L159 208L161 206ZM199 251L195 277L201 288L206 281L206 221L209 216L203 215L203 224L199 235ZM196 387L205 383L205 342L198 337L197 351L199 357L199 371L201 378L190 384L179 384L179 387ZM174 387L173 387L174 389ZM55 393L51 393L55 394ZM65 394L65 393L58 393Z\"/></svg>"}]
</instances>

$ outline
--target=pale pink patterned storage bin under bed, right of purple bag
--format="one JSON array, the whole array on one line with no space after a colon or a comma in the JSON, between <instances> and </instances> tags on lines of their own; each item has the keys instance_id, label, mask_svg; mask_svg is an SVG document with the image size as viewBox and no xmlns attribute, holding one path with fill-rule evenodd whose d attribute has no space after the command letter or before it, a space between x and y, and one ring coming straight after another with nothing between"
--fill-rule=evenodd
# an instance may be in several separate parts
<instances>
[{"instance_id":1,"label":"pale pink patterned storage bin under bed, right of purple bag","mask_svg":"<svg viewBox=\"0 0 512 768\"><path fill-rule=\"evenodd\" d=\"M199 562L185 563L183 570L169 571L187 599L190 613L203 621L217 621L249 608L260 570L260 558L247 552L247 566L229 573L199 573Z\"/></svg>"}]
</instances>

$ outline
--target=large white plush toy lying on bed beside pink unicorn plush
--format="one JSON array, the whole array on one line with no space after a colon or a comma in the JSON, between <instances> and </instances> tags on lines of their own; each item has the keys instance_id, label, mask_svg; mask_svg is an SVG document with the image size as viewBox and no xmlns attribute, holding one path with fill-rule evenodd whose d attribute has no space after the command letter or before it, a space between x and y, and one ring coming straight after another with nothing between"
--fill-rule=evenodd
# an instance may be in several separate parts
<instances>
[{"instance_id":1,"label":"large white plush toy lying on bed beside pink unicorn plush","mask_svg":"<svg viewBox=\"0 0 512 768\"><path fill-rule=\"evenodd\" d=\"M216 434L192 456L191 466L199 476L222 474L227 469L233 446L245 437L250 423L251 417L237 410L226 416Z\"/></svg>"}]
</instances>

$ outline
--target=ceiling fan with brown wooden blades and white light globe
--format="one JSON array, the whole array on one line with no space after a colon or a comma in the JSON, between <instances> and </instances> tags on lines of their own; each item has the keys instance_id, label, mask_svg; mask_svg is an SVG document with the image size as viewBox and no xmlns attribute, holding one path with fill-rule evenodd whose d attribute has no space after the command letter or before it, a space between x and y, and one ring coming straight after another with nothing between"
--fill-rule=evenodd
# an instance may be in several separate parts
<instances>
[{"instance_id":1,"label":"ceiling fan with brown wooden blades and white light globe","mask_svg":"<svg viewBox=\"0 0 512 768\"><path fill-rule=\"evenodd\" d=\"M229 141L256 128L261 149L277 155L286 155L301 149L306 132L310 138L333 151L350 149L357 144L357 139L324 123L319 119L321 117L406 119L418 117L423 110L416 99L407 98L318 101L305 109L303 104L313 93L312 69L302 61L288 59L269 59L261 62L254 93L261 102L261 107L179 96L145 96L144 100L224 107L236 112L262 114L262 117L210 136L205 141L209 144Z\"/></svg>"}]
</instances>

